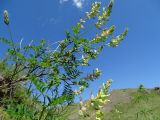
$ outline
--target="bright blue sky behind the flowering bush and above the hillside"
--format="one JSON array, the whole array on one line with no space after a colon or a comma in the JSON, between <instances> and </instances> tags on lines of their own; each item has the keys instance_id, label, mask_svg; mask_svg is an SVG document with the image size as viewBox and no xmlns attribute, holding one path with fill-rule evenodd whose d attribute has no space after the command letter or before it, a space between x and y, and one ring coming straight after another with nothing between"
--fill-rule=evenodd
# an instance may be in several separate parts
<instances>
[{"instance_id":1,"label":"bright blue sky behind the flowering bush and above the hillside","mask_svg":"<svg viewBox=\"0 0 160 120\"><path fill-rule=\"evenodd\" d=\"M100 0L98 0L100 1ZM39 41L44 38L55 42L65 37L81 16L89 10L94 0L1 0L1 16L7 9L15 41L23 39ZM106 6L109 0L101 0ZM116 25L115 35L125 27L129 33L118 48L105 48L96 61L91 61L92 70L102 70L101 77L91 83L84 93L96 93L107 79L113 79L111 89L134 88L143 83L146 87L160 85L160 1L115 0L109 25ZM7 28L0 17L0 36L8 37ZM90 36L90 35L89 35ZM3 56L5 47L1 47ZM87 71L86 71L87 72Z\"/></svg>"}]
</instances>

